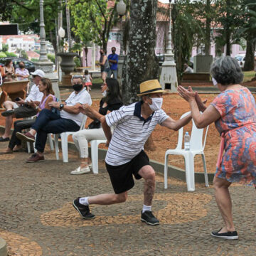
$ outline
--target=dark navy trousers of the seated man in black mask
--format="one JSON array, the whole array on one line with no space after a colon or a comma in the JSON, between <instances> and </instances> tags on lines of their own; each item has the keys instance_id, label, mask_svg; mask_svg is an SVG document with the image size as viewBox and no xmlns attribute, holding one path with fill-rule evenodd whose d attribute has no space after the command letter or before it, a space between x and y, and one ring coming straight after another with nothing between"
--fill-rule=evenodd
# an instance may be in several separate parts
<instances>
[{"instance_id":1,"label":"dark navy trousers of the seated man in black mask","mask_svg":"<svg viewBox=\"0 0 256 256\"><path fill-rule=\"evenodd\" d=\"M40 112L31 128L37 132L35 147L38 151L43 152L48 133L77 132L80 126L71 119L61 118L60 115L44 109Z\"/></svg>"}]
</instances>

